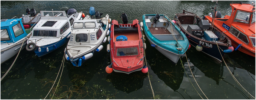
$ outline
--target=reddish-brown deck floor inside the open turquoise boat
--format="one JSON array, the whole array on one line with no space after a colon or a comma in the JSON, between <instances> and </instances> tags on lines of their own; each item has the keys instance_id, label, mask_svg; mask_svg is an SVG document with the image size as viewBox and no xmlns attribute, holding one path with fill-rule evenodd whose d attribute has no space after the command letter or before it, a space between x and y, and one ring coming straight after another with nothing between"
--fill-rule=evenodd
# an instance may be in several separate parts
<instances>
[{"instance_id":1,"label":"reddish-brown deck floor inside the open turquoise boat","mask_svg":"<svg viewBox=\"0 0 256 100\"><path fill-rule=\"evenodd\" d=\"M164 27L148 27L152 35L161 35L161 34L172 34L168 29Z\"/></svg>"}]
</instances>

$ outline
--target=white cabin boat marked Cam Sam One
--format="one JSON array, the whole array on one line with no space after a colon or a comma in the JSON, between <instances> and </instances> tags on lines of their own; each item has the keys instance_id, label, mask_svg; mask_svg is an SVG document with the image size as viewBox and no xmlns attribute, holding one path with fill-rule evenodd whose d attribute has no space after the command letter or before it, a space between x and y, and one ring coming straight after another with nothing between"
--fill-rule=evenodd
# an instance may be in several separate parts
<instances>
[{"instance_id":1,"label":"white cabin boat marked Cam Sam One","mask_svg":"<svg viewBox=\"0 0 256 100\"><path fill-rule=\"evenodd\" d=\"M109 15L100 18L96 13L96 18L87 15L83 20L75 20L71 29L71 36L67 48L65 48L65 58L74 66L81 66L83 62L91 58L97 51L101 51L102 43L106 42L110 28Z\"/></svg>"}]
</instances>

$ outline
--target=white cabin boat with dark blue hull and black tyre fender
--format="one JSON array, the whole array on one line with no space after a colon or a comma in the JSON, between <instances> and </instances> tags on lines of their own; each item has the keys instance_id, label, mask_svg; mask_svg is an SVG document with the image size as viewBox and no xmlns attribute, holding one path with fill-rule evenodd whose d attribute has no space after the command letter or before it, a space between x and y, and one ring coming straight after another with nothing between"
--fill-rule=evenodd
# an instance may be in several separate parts
<instances>
[{"instance_id":1,"label":"white cabin boat with dark blue hull and black tyre fender","mask_svg":"<svg viewBox=\"0 0 256 100\"><path fill-rule=\"evenodd\" d=\"M70 37L71 25L80 20L82 12L66 14L65 11L41 11L41 19L27 40L26 49L38 57L46 55L64 45Z\"/></svg>"}]
</instances>

